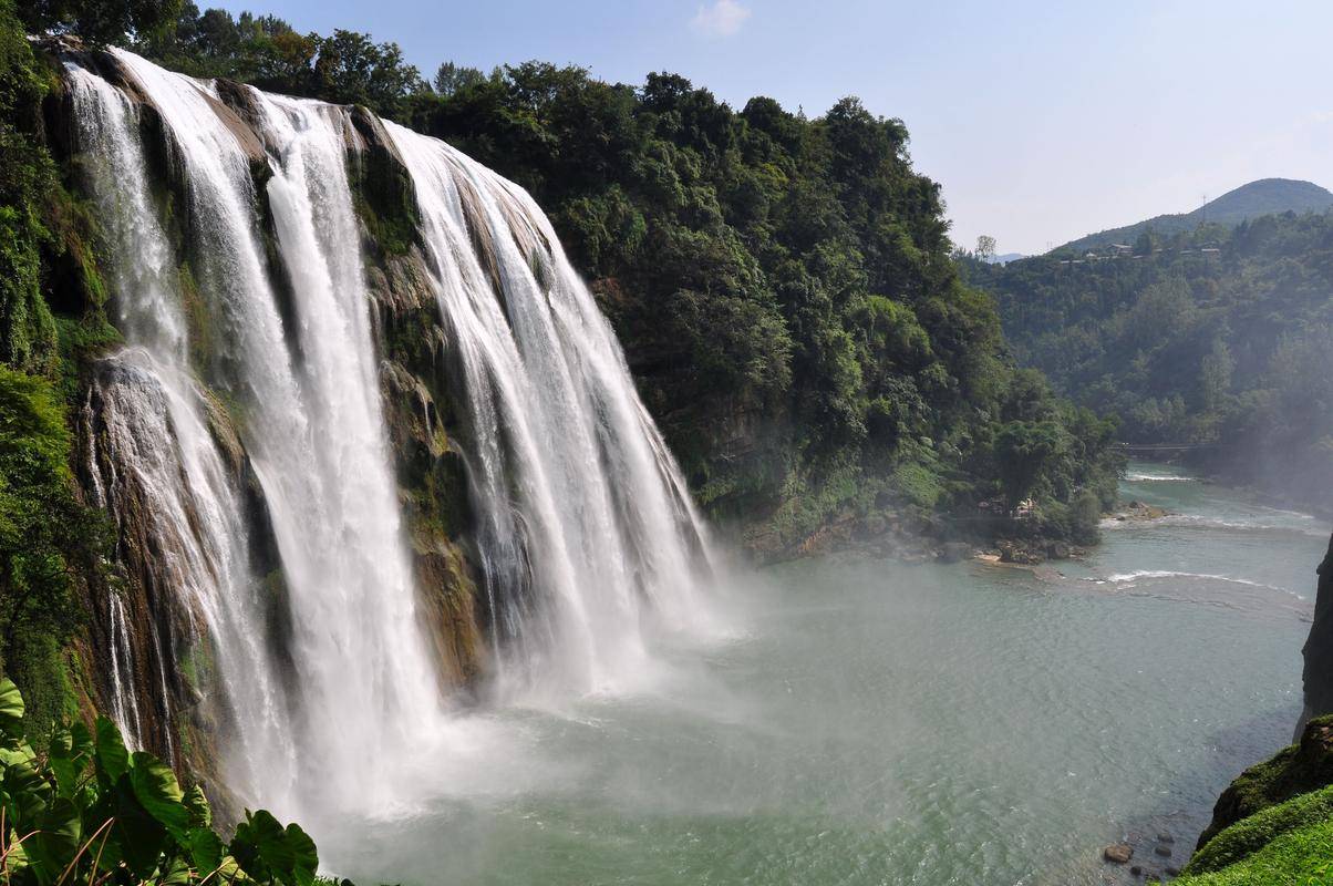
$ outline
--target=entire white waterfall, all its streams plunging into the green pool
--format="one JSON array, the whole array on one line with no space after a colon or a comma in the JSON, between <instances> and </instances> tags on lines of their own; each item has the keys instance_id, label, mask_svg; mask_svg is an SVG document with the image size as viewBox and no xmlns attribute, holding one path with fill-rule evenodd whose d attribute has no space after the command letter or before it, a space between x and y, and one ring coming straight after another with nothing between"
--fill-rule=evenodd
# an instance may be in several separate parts
<instances>
[{"instance_id":1,"label":"entire white waterfall, all its streams plunging into the green pool","mask_svg":"<svg viewBox=\"0 0 1333 886\"><path fill-rule=\"evenodd\" d=\"M245 87L239 113L216 83L111 61L121 85L67 61L125 339L88 387L89 486L123 547L127 520L143 523L129 535L187 614L141 624L109 602L113 709L139 737L131 635L167 647L160 709L167 659L204 639L231 789L279 809L392 802L453 714L381 398L352 111ZM495 697L633 686L652 631L696 619L709 571L678 471L531 197L377 123L420 215ZM168 180L145 160L159 129ZM256 566L265 544L277 575Z\"/></svg>"}]
</instances>

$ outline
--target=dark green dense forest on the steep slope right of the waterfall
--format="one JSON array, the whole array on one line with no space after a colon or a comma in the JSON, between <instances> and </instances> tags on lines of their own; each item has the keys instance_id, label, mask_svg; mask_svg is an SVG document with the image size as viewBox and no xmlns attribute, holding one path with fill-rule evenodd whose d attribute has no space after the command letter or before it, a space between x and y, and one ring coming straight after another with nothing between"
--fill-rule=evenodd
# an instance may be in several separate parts
<instances>
[{"instance_id":1,"label":"dark green dense forest on the steep slope right of the waterfall","mask_svg":"<svg viewBox=\"0 0 1333 886\"><path fill-rule=\"evenodd\" d=\"M189 5L137 48L364 103L527 187L701 502L768 518L765 543L846 511L976 514L1030 495L1048 531L1077 523L1086 539L1114 495L1112 427L1014 371L906 128L856 99L816 120L762 97L737 112L678 76L633 88L540 63L444 64L428 85L365 35Z\"/></svg>"}]
</instances>

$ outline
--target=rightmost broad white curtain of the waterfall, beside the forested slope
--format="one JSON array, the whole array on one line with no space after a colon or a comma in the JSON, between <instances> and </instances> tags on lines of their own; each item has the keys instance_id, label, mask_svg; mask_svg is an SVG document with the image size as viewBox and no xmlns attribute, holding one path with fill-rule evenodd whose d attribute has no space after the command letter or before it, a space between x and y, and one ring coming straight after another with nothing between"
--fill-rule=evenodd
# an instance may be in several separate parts
<instances>
[{"instance_id":1,"label":"rightmost broad white curtain of the waterfall, beside the forested slope","mask_svg":"<svg viewBox=\"0 0 1333 886\"><path fill-rule=\"evenodd\" d=\"M520 656L524 682L615 689L645 655L645 604L681 622L697 612L698 520L541 211L445 143L388 129L412 175L465 382L497 644ZM476 226L491 255L472 248Z\"/></svg>"}]
</instances>

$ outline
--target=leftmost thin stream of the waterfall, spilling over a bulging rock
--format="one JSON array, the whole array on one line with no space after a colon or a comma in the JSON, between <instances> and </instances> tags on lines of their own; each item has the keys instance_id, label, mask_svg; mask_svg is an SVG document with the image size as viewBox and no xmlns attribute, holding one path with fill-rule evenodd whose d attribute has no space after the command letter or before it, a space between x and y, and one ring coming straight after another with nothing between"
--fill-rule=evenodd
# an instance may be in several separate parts
<instances>
[{"instance_id":1,"label":"leftmost thin stream of the waterfall, spilling over a bulging rock","mask_svg":"<svg viewBox=\"0 0 1333 886\"><path fill-rule=\"evenodd\" d=\"M185 602L188 614L201 616L224 683L247 686L221 701L236 725L229 754L236 761L235 782L253 787L260 779L255 763L276 759L289 769L293 745L277 669L265 646L243 504L189 375L172 248L148 193L133 108L81 68L71 67L68 81L99 217L116 256L117 323L131 346L101 362L84 410L93 499L117 519L133 507L131 496L143 503L147 535L167 572L164 584ZM137 742L141 717L131 689L127 610L115 594L108 606L115 713ZM161 628L151 628L165 706L169 652L161 648ZM288 783L280 778L268 787L281 795Z\"/></svg>"}]
</instances>

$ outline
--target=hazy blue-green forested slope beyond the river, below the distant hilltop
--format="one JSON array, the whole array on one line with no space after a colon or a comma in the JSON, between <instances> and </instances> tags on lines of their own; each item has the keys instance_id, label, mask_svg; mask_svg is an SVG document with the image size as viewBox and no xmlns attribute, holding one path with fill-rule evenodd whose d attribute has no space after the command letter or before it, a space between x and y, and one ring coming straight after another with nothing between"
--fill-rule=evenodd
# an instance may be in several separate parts
<instances>
[{"instance_id":1,"label":"hazy blue-green forested slope beyond the river, below the distant hilltop","mask_svg":"<svg viewBox=\"0 0 1333 886\"><path fill-rule=\"evenodd\" d=\"M1185 443L1233 480L1310 504L1333 482L1333 216L1202 226L1133 255L968 263L1021 363L1125 439Z\"/></svg>"}]
</instances>

